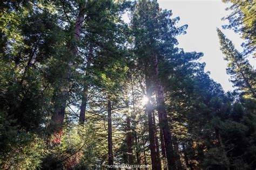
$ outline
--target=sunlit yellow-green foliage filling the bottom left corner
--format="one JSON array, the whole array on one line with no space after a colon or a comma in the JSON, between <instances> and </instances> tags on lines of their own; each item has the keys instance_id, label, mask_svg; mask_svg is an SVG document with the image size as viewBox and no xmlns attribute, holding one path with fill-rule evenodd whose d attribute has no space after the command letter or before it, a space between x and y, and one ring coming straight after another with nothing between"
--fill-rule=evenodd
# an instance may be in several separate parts
<instances>
[{"instance_id":1,"label":"sunlit yellow-green foliage filling the bottom left corner","mask_svg":"<svg viewBox=\"0 0 256 170\"><path fill-rule=\"evenodd\" d=\"M45 155L45 142L35 134L12 126L11 119L1 112L0 167L3 169L36 169Z\"/></svg>"}]
</instances>

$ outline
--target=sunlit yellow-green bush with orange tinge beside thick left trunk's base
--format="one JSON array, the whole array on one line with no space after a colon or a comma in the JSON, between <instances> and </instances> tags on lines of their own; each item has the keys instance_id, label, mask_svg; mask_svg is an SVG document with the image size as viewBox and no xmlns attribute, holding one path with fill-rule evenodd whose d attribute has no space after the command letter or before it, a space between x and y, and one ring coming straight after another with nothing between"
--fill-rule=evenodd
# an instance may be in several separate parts
<instances>
[{"instance_id":1,"label":"sunlit yellow-green bush with orange tinge beside thick left trunk's base","mask_svg":"<svg viewBox=\"0 0 256 170\"><path fill-rule=\"evenodd\" d=\"M91 123L85 126L71 125L65 129L62 143L46 150L43 168L86 169L97 165L95 128Z\"/></svg>"}]
</instances>

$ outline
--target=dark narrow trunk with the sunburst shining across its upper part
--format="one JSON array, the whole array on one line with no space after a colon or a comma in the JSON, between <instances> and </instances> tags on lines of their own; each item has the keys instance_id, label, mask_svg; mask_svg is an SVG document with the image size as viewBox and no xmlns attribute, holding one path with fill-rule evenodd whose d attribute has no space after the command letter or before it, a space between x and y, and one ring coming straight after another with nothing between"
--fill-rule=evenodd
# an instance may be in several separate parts
<instances>
[{"instance_id":1,"label":"dark narrow trunk with the sunburst shining across its upper part","mask_svg":"<svg viewBox=\"0 0 256 170\"><path fill-rule=\"evenodd\" d=\"M146 113L147 113L147 120L149 124L149 140L150 140L149 147L150 147L151 163L152 163L152 169L158 169L156 141L154 140L154 126L153 126L153 117L152 117L153 105L151 104L151 100L150 100L152 95L151 89L152 89L151 84L146 74L146 95L147 95L147 98L149 98L146 105Z\"/></svg>"}]
</instances>

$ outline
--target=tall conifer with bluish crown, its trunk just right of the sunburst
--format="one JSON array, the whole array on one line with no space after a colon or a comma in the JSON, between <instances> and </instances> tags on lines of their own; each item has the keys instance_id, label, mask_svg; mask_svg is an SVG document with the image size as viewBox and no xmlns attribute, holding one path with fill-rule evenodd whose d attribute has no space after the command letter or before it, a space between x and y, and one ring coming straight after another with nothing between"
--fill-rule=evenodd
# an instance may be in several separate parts
<instances>
[{"instance_id":1,"label":"tall conifer with bluish crown, its trunk just right of the sunburst","mask_svg":"<svg viewBox=\"0 0 256 170\"><path fill-rule=\"evenodd\" d=\"M157 2L139 1L132 14L132 26L134 29L135 53L138 56L140 65L143 66L144 74L149 83L146 86L152 86L156 92L157 107L160 115L160 128L163 129L165 142L166 158L169 168L176 169L176 160L170 133L170 125L167 121L165 108L165 98L163 87L161 86L159 70L161 62L169 56L178 52L175 36L184 33L185 26L176 27L174 24L179 18L170 19L171 11L159 9ZM151 94L147 94L150 99ZM149 117L151 117L149 115ZM151 120L152 118L149 118ZM149 121L150 123L150 121ZM149 124L149 126L151 126ZM155 142L152 140L152 143ZM152 144L152 145L154 145ZM152 147L152 153L156 148ZM153 154L154 155L154 154ZM152 158L152 160L155 158Z\"/></svg>"}]
</instances>

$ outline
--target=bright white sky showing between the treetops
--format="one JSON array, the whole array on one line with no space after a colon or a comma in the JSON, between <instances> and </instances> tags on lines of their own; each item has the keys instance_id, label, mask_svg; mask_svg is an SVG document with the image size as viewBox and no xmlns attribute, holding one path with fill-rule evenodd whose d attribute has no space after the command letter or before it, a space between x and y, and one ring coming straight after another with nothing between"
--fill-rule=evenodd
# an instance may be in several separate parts
<instances>
[{"instance_id":1,"label":"bright white sky showing between the treetops","mask_svg":"<svg viewBox=\"0 0 256 170\"><path fill-rule=\"evenodd\" d=\"M227 38L231 39L235 47L242 51L239 34L232 30L223 30L221 25L227 22L221 18L228 15L231 11L225 11L230 4L225 4L221 0L158 0L162 9L172 10L172 17L180 17L178 25L187 24L187 33L178 36L179 47L184 48L185 52L203 52L201 59L206 63L206 71L210 71L210 77L223 86L225 91L233 90L232 83L228 81L230 76L226 74L226 64L224 55L220 51L219 39L216 27L221 29ZM124 19L128 19L124 16ZM256 67L255 60L250 57L251 65Z\"/></svg>"}]
</instances>

